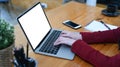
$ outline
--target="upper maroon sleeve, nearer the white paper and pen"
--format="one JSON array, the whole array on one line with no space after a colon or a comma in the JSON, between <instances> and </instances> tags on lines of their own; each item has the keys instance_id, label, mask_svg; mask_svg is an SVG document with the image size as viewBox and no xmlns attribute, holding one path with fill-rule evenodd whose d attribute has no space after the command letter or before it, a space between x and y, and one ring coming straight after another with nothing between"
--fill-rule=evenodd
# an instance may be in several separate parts
<instances>
[{"instance_id":1,"label":"upper maroon sleeve, nearer the white paper and pen","mask_svg":"<svg viewBox=\"0 0 120 67\"><path fill-rule=\"evenodd\" d=\"M98 32L80 32L87 43L117 43L120 40L120 27L114 30Z\"/></svg>"}]
</instances>

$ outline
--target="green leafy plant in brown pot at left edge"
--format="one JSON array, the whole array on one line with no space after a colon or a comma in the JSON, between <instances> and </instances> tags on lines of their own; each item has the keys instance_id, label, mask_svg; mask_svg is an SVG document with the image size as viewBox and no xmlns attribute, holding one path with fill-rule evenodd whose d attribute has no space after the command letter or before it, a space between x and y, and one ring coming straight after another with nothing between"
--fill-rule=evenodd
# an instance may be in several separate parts
<instances>
[{"instance_id":1,"label":"green leafy plant in brown pot at left edge","mask_svg":"<svg viewBox=\"0 0 120 67\"><path fill-rule=\"evenodd\" d=\"M0 19L0 66L12 67L12 48L14 46L14 27Z\"/></svg>"}]
</instances>

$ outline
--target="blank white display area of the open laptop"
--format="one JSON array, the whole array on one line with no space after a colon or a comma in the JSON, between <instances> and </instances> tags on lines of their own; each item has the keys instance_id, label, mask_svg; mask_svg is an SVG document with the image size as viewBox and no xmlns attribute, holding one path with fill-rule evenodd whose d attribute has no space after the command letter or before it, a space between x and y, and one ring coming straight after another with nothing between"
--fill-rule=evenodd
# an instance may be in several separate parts
<instances>
[{"instance_id":1,"label":"blank white display area of the open laptop","mask_svg":"<svg viewBox=\"0 0 120 67\"><path fill-rule=\"evenodd\" d=\"M21 15L18 21L33 49L51 29L40 3Z\"/></svg>"}]
</instances>

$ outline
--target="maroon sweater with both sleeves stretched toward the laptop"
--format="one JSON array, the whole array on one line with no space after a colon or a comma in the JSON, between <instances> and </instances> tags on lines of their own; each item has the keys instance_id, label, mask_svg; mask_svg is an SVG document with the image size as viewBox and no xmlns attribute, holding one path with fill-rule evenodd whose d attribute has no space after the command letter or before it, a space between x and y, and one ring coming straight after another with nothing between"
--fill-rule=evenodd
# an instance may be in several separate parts
<instances>
[{"instance_id":1,"label":"maroon sweater with both sleeves stretched toward the laptop","mask_svg":"<svg viewBox=\"0 0 120 67\"><path fill-rule=\"evenodd\" d=\"M83 40L77 40L71 50L95 67L120 67L120 54L109 57L101 54L88 44L117 43L120 40L120 27L99 32L81 32Z\"/></svg>"}]
</instances>

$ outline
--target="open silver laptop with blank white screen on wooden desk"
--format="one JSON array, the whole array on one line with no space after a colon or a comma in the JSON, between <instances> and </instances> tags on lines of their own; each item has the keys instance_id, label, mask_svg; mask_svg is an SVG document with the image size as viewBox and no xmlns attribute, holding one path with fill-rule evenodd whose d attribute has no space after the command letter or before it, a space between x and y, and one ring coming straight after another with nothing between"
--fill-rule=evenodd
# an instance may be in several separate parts
<instances>
[{"instance_id":1,"label":"open silver laptop with blank white screen on wooden desk","mask_svg":"<svg viewBox=\"0 0 120 67\"><path fill-rule=\"evenodd\" d=\"M53 45L61 31L51 27L40 2L25 11L17 20L35 53L69 60L74 58L69 46Z\"/></svg>"}]
</instances>

